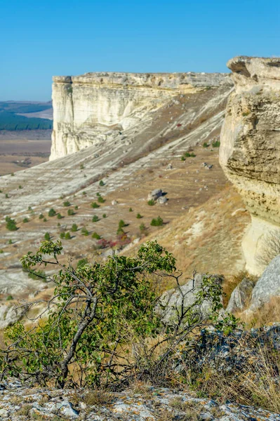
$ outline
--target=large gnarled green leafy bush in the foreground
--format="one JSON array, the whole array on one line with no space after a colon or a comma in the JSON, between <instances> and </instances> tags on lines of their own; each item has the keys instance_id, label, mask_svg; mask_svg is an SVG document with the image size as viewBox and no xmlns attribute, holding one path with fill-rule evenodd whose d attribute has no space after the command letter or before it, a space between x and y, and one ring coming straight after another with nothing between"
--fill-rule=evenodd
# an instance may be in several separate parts
<instances>
[{"instance_id":1,"label":"large gnarled green leafy bush in the foreground","mask_svg":"<svg viewBox=\"0 0 280 421\"><path fill-rule=\"evenodd\" d=\"M227 323L219 315L222 288L215 278L204 276L194 302L179 307L172 323L166 324L156 310L159 300L153 279L159 282L162 276L171 276L183 302L192 290L182 293L182 274L176 272L175 258L158 243L140 246L134 258L114 255L105 262L76 269L60 264L61 252L60 241L46 241L34 255L29 252L22 258L27 269L48 264L57 267L52 279L55 295L48 302L44 323L39 314L36 328L20 321L6 329L8 347L0 350L4 377L16 376L29 385L55 384L60 388L117 388L131 378L149 381L156 377L159 385L192 381L182 363L189 353L189 343L209 319L211 327L220 331ZM57 300L52 305L54 297ZM211 312L207 317L198 316L205 300L211 300ZM33 305L27 304L27 308ZM230 323L232 328L236 326L236 320ZM137 349L133 358L131 342ZM121 349L124 353L120 355Z\"/></svg>"}]
</instances>

